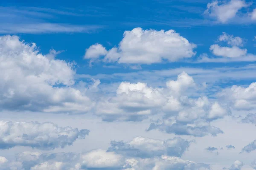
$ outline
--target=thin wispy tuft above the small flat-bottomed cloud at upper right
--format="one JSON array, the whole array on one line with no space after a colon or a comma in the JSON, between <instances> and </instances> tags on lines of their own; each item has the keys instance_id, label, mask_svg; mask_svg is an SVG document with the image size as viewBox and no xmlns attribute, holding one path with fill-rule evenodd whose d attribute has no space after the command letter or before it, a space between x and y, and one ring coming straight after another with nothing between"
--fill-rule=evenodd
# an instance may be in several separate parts
<instances>
[{"instance_id":1,"label":"thin wispy tuft above the small flat-bottomed cloud at upper right","mask_svg":"<svg viewBox=\"0 0 256 170\"><path fill-rule=\"evenodd\" d=\"M225 32L221 36L218 37L219 41L227 42L228 45L232 46L243 46L244 40L240 37L234 37L233 35L229 35Z\"/></svg>"}]
</instances>

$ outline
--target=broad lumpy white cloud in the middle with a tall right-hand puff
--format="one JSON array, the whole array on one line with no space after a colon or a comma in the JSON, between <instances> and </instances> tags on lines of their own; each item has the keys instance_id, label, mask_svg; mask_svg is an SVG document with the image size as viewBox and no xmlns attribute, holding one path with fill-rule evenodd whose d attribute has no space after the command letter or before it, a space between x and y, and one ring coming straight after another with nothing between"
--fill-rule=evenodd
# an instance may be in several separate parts
<instances>
[{"instance_id":1,"label":"broad lumpy white cloud in the middle with a tall right-hand puff","mask_svg":"<svg viewBox=\"0 0 256 170\"><path fill-rule=\"evenodd\" d=\"M195 90L192 77L185 72L177 80L166 82L165 88L153 88L145 83L122 82L116 95L102 98L95 113L105 121L141 121L156 113L176 118L177 123L189 124L198 119L212 121L227 115L227 108L218 102L209 102L206 96L189 98Z\"/></svg>"}]
</instances>

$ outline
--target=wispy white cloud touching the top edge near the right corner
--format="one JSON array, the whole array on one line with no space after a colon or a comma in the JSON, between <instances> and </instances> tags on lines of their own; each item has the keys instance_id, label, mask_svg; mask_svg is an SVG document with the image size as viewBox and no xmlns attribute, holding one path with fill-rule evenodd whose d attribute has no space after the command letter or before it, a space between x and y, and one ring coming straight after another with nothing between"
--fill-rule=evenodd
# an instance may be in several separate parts
<instances>
[{"instance_id":1,"label":"wispy white cloud touching the top edge near the right corner","mask_svg":"<svg viewBox=\"0 0 256 170\"><path fill-rule=\"evenodd\" d=\"M207 4L205 14L215 18L220 23L227 23L229 20L236 17L236 14L241 8L247 7L245 0L230 0L219 4L218 0Z\"/></svg>"}]
</instances>

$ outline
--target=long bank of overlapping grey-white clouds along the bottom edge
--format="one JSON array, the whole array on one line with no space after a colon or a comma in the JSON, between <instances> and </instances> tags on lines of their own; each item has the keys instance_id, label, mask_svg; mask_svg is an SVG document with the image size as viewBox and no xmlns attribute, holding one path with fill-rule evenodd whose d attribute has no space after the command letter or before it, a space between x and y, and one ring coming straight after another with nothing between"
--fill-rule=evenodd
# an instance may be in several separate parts
<instances>
[{"instance_id":1,"label":"long bank of overlapping grey-white clouds along the bottom edge","mask_svg":"<svg viewBox=\"0 0 256 170\"><path fill-rule=\"evenodd\" d=\"M130 144L128 147L128 143ZM23 152L15 160L0 159L0 168L31 170L210 170L209 165L183 160L180 156L189 147L181 139L156 140L134 138L126 146L113 146L109 150L92 150L87 153ZM134 151L138 150L138 153ZM153 149L152 154L150 150ZM167 153L164 150L167 149ZM135 153L135 154L134 154ZM143 154L140 154L143 153Z\"/></svg>"}]
</instances>

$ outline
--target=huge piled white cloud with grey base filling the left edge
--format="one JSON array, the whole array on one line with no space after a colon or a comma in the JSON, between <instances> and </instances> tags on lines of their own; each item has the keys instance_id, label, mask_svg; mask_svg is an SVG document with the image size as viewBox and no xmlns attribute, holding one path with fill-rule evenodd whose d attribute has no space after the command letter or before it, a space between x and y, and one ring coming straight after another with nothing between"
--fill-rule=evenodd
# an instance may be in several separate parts
<instances>
[{"instance_id":1,"label":"huge piled white cloud with grey base filling the left edge","mask_svg":"<svg viewBox=\"0 0 256 170\"><path fill-rule=\"evenodd\" d=\"M0 108L43 112L87 112L93 102L74 85L73 64L38 52L35 43L0 37Z\"/></svg>"}]
</instances>

